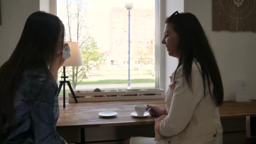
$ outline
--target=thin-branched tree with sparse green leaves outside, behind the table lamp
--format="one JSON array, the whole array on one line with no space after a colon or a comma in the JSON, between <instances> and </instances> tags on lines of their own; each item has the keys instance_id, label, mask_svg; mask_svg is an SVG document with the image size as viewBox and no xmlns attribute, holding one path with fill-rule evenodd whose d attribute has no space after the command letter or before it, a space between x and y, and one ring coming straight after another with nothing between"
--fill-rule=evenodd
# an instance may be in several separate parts
<instances>
[{"instance_id":1,"label":"thin-branched tree with sparse green leaves outside, behind the table lamp","mask_svg":"<svg viewBox=\"0 0 256 144\"><path fill-rule=\"evenodd\" d=\"M97 66L100 61L99 48L93 37L89 34L88 24L85 22L87 9L82 0L64 0L67 7L67 20L64 21L66 41L77 42L81 51L83 66L67 67L67 75L71 78L72 88L85 78L87 74Z\"/></svg>"}]
</instances>

